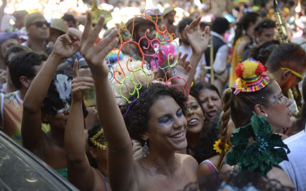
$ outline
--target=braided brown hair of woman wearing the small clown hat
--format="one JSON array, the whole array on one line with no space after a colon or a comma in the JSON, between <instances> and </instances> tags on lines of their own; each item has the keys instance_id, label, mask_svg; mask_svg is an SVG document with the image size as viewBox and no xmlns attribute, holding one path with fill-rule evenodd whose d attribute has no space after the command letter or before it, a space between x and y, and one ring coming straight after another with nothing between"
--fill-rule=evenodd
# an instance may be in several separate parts
<instances>
[{"instance_id":1,"label":"braided brown hair of woman wearing the small clown hat","mask_svg":"<svg viewBox=\"0 0 306 191\"><path fill-rule=\"evenodd\" d=\"M234 95L234 88L227 88L223 93L223 114L221 124L221 148L225 148L225 144L228 138L228 122L230 118L236 128L243 127L251 122L253 116L254 106L260 104L268 107L270 105L270 96L274 93L271 88L271 83L276 83L274 77L269 75L270 82L265 87L255 92L240 92ZM225 155L222 150L220 159L218 161L218 169L220 169L221 161Z\"/></svg>"}]
</instances>

